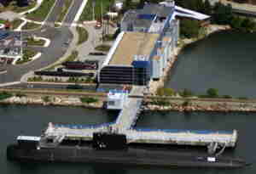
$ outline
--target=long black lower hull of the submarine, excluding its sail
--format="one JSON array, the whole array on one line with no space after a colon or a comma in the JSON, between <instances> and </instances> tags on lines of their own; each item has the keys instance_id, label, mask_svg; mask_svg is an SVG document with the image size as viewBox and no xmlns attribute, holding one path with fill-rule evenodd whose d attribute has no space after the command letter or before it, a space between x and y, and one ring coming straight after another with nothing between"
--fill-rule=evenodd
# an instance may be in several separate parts
<instances>
[{"instance_id":1,"label":"long black lower hull of the submarine, excluding its sail","mask_svg":"<svg viewBox=\"0 0 256 174\"><path fill-rule=\"evenodd\" d=\"M48 162L107 163L126 166L163 166L163 167L212 167L239 168L247 166L244 160L219 157L208 161L207 156L168 150L131 149L96 150L90 147L58 146L45 149L25 149L16 144L7 148L9 160L32 160Z\"/></svg>"}]
</instances>

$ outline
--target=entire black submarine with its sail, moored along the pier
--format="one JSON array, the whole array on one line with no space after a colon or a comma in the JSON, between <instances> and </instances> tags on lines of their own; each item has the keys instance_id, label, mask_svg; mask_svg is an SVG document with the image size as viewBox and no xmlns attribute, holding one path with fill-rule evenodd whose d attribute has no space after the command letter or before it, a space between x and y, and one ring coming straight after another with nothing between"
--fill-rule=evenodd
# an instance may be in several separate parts
<instances>
[{"instance_id":1,"label":"entire black submarine with its sail, moored along the pier","mask_svg":"<svg viewBox=\"0 0 256 174\"><path fill-rule=\"evenodd\" d=\"M61 142L61 143L60 143ZM125 166L239 168L247 162L224 156L195 155L166 149L143 149L124 134L94 132L91 140L19 136L7 147L7 158L20 161L107 163Z\"/></svg>"}]
</instances>

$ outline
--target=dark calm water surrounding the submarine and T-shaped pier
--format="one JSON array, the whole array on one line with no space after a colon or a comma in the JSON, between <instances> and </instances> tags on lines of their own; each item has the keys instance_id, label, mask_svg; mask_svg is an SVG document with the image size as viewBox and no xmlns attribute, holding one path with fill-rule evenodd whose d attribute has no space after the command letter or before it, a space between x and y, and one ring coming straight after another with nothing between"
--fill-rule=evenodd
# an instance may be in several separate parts
<instances>
[{"instance_id":1,"label":"dark calm water surrounding the submarine and T-shaped pier","mask_svg":"<svg viewBox=\"0 0 256 174\"><path fill-rule=\"evenodd\" d=\"M166 168L135 168L121 166L91 166L86 164L69 163L19 163L6 160L5 149L9 143L15 142L15 137L23 132L26 135L38 136L49 121L61 123L95 124L113 121L114 115L105 111L82 108L44 107L44 106L0 106L0 166L1 173L7 174L170 174L170 173L195 173L195 174L251 174L256 172L256 164L238 170L214 169L166 169ZM151 128L177 128L177 129L212 129L239 131L239 143L233 152L235 156L245 157L256 162L254 148L256 140L256 115L255 114L221 114L221 113L194 113L184 115L178 112L146 113L141 115L137 127Z\"/></svg>"}]
</instances>

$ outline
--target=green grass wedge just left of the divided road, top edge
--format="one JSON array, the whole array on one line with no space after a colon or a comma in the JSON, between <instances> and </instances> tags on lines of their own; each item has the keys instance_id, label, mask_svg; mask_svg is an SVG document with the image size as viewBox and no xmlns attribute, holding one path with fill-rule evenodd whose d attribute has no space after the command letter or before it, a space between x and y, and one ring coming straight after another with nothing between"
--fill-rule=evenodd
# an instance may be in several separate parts
<instances>
[{"instance_id":1,"label":"green grass wedge just left of the divided road, top edge","mask_svg":"<svg viewBox=\"0 0 256 174\"><path fill-rule=\"evenodd\" d=\"M44 0L40 8L30 14L27 14L26 17L30 20L44 21L54 3L55 0Z\"/></svg>"}]
</instances>

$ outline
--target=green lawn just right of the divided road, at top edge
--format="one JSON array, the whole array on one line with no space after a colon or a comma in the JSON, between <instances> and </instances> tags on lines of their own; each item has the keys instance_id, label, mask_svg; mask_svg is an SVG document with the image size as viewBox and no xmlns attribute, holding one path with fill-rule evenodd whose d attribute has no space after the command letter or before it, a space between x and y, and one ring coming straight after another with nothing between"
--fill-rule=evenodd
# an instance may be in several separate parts
<instances>
[{"instance_id":1,"label":"green lawn just right of the divided road, at top edge","mask_svg":"<svg viewBox=\"0 0 256 174\"><path fill-rule=\"evenodd\" d=\"M80 16L79 21L82 22L84 20L93 20L92 19L92 2L94 0L88 0L82 15ZM101 19L102 14L106 14L109 10L111 4L113 4L114 0L95 0L95 20Z\"/></svg>"}]
</instances>

